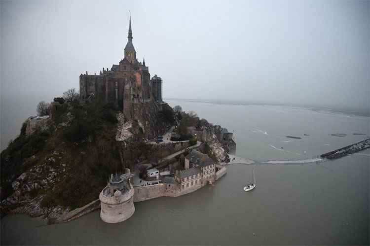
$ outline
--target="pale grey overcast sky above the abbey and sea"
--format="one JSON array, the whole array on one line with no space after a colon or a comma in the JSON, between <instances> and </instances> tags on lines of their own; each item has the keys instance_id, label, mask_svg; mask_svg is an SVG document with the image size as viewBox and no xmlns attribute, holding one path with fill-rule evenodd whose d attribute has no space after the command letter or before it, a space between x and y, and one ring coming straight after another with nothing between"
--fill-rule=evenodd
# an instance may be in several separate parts
<instances>
[{"instance_id":1,"label":"pale grey overcast sky above the abbey and sea","mask_svg":"<svg viewBox=\"0 0 370 246\"><path fill-rule=\"evenodd\" d=\"M118 64L130 9L137 57L164 98L370 106L370 1L0 4L2 105L51 101Z\"/></svg>"}]
</instances>

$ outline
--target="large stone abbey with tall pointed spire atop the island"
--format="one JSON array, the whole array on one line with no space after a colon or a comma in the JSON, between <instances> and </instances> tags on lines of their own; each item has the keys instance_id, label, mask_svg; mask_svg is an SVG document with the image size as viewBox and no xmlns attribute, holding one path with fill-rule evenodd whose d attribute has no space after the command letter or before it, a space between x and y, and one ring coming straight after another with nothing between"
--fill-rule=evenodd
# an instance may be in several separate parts
<instances>
[{"instance_id":1,"label":"large stone abbey with tall pointed spire atop the island","mask_svg":"<svg viewBox=\"0 0 370 246\"><path fill-rule=\"evenodd\" d=\"M124 48L124 58L119 65L113 64L100 71L99 75L81 74L79 91L82 100L95 99L113 103L122 108L126 118L133 116L135 104L162 102L162 79L154 75L150 79L149 68L139 62L132 43L131 15L128 29L128 41Z\"/></svg>"}]
</instances>

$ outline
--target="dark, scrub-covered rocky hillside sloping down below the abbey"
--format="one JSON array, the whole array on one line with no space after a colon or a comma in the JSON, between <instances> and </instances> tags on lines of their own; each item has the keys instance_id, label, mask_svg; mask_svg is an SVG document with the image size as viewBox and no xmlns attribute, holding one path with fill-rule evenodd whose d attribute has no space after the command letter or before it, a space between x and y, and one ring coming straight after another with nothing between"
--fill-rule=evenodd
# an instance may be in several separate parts
<instances>
[{"instance_id":1,"label":"dark, scrub-covered rocky hillside sloping down below the abbey","mask_svg":"<svg viewBox=\"0 0 370 246\"><path fill-rule=\"evenodd\" d=\"M95 200L111 173L155 151L144 139L162 134L169 122L152 107L138 106L127 122L109 104L54 103L33 134L23 124L1 152L1 213L55 217ZM128 136L116 141L118 125Z\"/></svg>"}]
</instances>

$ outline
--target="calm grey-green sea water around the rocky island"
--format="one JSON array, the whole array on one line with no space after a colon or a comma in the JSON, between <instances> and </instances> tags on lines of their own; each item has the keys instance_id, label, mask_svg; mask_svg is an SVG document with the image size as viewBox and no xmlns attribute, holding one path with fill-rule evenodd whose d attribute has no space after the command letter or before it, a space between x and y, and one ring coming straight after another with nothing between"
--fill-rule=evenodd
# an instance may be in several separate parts
<instances>
[{"instance_id":1,"label":"calm grey-green sea water around the rocky island","mask_svg":"<svg viewBox=\"0 0 370 246\"><path fill-rule=\"evenodd\" d=\"M236 155L259 163L309 159L370 135L370 118L364 116L167 102L233 131ZM347 136L331 135L337 133ZM1 244L369 245L369 164L370 151L365 150L319 164L230 165L215 186L136 203L135 214L119 224L104 223L98 211L49 226L25 215L5 216ZM253 167L257 187L244 192Z\"/></svg>"}]
</instances>

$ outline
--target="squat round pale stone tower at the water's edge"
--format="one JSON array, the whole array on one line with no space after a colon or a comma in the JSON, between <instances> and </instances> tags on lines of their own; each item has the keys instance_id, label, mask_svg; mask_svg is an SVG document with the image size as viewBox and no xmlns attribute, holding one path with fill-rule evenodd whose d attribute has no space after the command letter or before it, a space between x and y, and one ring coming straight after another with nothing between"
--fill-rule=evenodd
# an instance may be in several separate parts
<instances>
[{"instance_id":1,"label":"squat round pale stone tower at the water's edge","mask_svg":"<svg viewBox=\"0 0 370 246\"><path fill-rule=\"evenodd\" d=\"M100 217L107 223L118 223L132 216L134 207L134 188L131 185L130 169L123 175L111 175L108 185L100 192Z\"/></svg>"}]
</instances>

